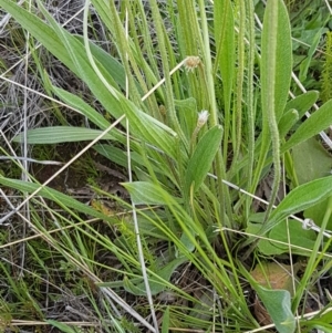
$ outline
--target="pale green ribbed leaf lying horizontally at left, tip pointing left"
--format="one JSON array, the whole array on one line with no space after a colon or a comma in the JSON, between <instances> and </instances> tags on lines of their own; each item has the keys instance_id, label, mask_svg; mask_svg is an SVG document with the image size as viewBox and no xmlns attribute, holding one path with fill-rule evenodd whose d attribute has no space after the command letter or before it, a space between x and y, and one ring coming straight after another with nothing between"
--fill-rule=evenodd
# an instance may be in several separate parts
<instances>
[{"instance_id":1,"label":"pale green ribbed leaf lying horizontally at left, tip pointing left","mask_svg":"<svg viewBox=\"0 0 332 333\"><path fill-rule=\"evenodd\" d=\"M28 144L29 145L48 145L48 144L60 144L60 143L73 143L93 141L103 131L90 129L84 127L71 127L71 126L52 126L41 127L28 131ZM14 137L13 142L22 143L24 139L23 134L19 134ZM106 133L101 139L112 139L114 136Z\"/></svg>"}]
</instances>

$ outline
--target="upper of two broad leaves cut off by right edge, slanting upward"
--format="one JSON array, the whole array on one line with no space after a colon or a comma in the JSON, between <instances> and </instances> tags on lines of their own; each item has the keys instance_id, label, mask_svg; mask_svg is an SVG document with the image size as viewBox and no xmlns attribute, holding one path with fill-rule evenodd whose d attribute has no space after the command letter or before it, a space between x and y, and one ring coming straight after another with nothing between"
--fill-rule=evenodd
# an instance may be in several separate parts
<instances>
[{"instance_id":1,"label":"upper of two broad leaves cut off by right edge, slanting upward","mask_svg":"<svg viewBox=\"0 0 332 333\"><path fill-rule=\"evenodd\" d=\"M332 124L331 108L332 100L323 104L299 128L297 128L297 132L281 147L281 154L328 128Z\"/></svg>"}]
</instances>

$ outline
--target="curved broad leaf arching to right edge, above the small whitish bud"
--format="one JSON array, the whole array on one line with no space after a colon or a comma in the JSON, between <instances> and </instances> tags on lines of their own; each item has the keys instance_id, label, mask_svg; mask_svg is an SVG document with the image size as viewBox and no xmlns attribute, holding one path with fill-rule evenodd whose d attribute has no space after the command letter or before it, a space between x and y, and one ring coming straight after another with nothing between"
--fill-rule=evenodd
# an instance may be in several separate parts
<instances>
[{"instance_id":1,"label":"curved broad leaf arching to right edge, above the small whitish bud","mask_svg":"<svg viewBox=\"0 0 332 333\"><path fill-rule=\"evenodd\" d=\"M332 195L332 176L312 180L291 190L278 205L258 235L262 236L282 219L323 201Z\"/></svg>"}]
</instances>

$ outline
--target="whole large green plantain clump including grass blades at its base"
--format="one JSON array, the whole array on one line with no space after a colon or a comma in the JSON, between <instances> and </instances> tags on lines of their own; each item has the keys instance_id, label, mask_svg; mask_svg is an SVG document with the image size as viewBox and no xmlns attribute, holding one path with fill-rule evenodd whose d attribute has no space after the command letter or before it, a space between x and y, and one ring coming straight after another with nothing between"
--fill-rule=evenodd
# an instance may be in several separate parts
<instances>
[{"instance_id":1,"label":"whole large green plantain clump including grass blades at its base","mask_svg":"<svg viewBox=\"0 0 332 333\"><path fill-rule=\"evenodd\" d=\"M43 205L41 197L66 211L53 216L61 225L52 230L35 215L29 225L72 264L66 268L70 272L77 269L101 292L100 318L107 313L110 319L101 321L105 331L126 331L124 311L152 332L168 332L173 326L209 332L258 329L245 279L279 332L294 332L297 325L300 330L304 324L295 320L295 313L310 273L322 260L318 253L326 223L318 237L303 231L309 248L299 250L294 237L299 230L289 227L287 218L326 201L332 177L299 185L291 152L331 125L332 102L303 119L318 92L289 97L292 40L287 7L281 0L268 0L262 31L257 32L252 1L179 0L174 4L151 0L148 10L145 6L143 1L86 0L83 33L76 35L62 28L41 1L25 9L0 0L22 29L86 84L107 115L52 84L41 69L45 90L85 117L90 127L32 128L13 142L91 142L86 149L128 171L129 180L122 186L131 201L104 192L123 207L121 214L108 214L52 189L49 181L0 176L0 184L28 192L27 200L33 205ZM114 54L91 40L92 12L107 31ZM259 215L250 194L270 170L269 204ZM290 180L292 190L273 210L282 179ZM325 211L324 221L331 210ZM84 216L104 220L120 235L104 235ZM284 237L286 232L291 235ZM100 262L98 251L112 253L121 268ZM291 256L292 251L309 257L310 262L293 299L287 290L263 290L246 273L255 256ZM98 275L98 269L108 271L106 278ZM174 280L186 269L204 281L199 293L191 294ZM146 298L145 308L127 304L120 296L123 290ZM158 304L166 293L177 300L174 305ZM273 302L284 308L276 309ZM151 321L145 319L147 313ZM160 327L158 313L165 320ZM63 324L49 323L72 332Z\"/></svg>"}]
</instances>

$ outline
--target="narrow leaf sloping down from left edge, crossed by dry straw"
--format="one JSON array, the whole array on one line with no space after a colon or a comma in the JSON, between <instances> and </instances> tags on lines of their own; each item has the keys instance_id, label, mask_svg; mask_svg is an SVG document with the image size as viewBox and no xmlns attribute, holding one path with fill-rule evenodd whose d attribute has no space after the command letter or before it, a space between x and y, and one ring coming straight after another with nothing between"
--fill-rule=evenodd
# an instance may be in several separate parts
<instances>
[{"instance_id":1,"label":"narrow leaf sloping down from left edge, crossed by dry straw","mask_svg":"<svg viewBox=\"0 0 332 333\"><path fill-rule=\"evenodd\" d=\"M23 181L23 180L18 180L18 179L10 179L10 178L4 178L4 177L0 177L0 184L3 186L8 186L14 189L18 189L20 191L24 191L24 192L29 192L32 194L38 188L40 188L39 184L34 184L34 183L30 183L30 181ZM76 199L66 196L53 188L50 187L42 187L39 191L38 195L50 199L59 205L63 205L65 207L69 208L73 208L80 212L84 212L86 215L91 215L93 217L97 217L101 219L107 219L107 217L102 214L98 212L97 210L77 201Z\"/></svg>"}]
</instances>

